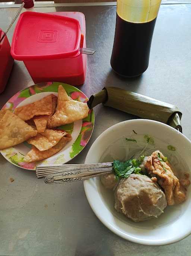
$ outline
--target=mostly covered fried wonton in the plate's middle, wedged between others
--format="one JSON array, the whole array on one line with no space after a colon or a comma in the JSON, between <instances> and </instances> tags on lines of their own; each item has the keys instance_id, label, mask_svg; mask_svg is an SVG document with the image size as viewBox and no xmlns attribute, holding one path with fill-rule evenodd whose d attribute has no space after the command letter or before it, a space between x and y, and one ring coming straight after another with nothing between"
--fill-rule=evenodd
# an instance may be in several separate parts
<instances>
[{"instance_id":1,"label":"mostly covered fried wonton in the plate's middle, wedged between others","mask_svg":"<svg viewBox=\"0 0 191 256\"><path fill-rule=\"evenodd\" d=\"M56 104L57 104L57 97L54 94L52 95L52 112L50 115L37 115L33 117L34 123L37 126L37 130L38 132L44 132L46 127L47 127L47 123L48 123L48 118L50 118L56 109Z\"/></svg>"}]
</instances>

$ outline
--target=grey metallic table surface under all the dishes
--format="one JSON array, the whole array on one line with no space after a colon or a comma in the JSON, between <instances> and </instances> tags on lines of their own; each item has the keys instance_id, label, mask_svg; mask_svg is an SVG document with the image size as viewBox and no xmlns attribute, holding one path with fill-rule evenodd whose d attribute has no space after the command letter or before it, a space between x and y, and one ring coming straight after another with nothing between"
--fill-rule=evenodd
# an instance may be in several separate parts
<instances>
[{"instance_id":1,"label":"grey metallic table surface under all the dishes","mask_svg":"<svg viewBox=\"0 0 191 256\"><path fill-rule=\"evenodd\" d=\"M87 78L80 87L87 96L105 85L116 86L175 105L183 112L183 133L191 139L191 4L160 7L151 46L150 64L140 77L124 79L110 67L115 31L115 6L38 7L37 12L80 11L85 14L88 57ZM0 26L6 29L15 8L0 9ZM14 26L9 31L11 41ZM16 92L34 84L21 61L15 61L0 106ZM136 118L97 106L95 128L87 147L71 163L84 163L95 139L108 127ZM10 177L15 181L10 182ZM190 220L188 220L190 221ZM186 225L186 223L185 223ZM177 230L178 232L178 230ZM26 171L0 155L0 255L112 256L190 255L191 236L167 246L142 246L123 240L94 215L83 183L46 185L34 171Z\"/></svg>"}]
</instances>

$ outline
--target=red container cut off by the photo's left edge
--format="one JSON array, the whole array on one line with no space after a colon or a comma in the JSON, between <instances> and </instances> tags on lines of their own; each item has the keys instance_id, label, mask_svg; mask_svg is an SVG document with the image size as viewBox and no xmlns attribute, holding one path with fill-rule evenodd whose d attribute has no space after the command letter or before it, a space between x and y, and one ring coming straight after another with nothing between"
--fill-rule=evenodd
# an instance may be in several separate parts
<instances>
[{"instance_id":1,"label":"red container cut off by the photo's left edge","mask_svg":"<svg viewBox=\"0 0 191 256\"><path fill-rule=\"evenodd\" d=\"M1 33L0 38L3 36L3 33L4 32ZM0 43L0 93L2 93L6 87L13 67L13 62L14 60L10 55L9 40L7 39L7 36L5 36Z\"/></svg>"}]
</instances>

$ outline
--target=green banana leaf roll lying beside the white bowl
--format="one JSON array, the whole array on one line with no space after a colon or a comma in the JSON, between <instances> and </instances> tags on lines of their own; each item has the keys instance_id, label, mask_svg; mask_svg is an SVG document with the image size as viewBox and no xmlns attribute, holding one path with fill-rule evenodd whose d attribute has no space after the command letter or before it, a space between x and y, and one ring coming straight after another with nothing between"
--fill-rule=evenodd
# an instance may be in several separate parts
<instances>
[{"instance_id":1,"label":"green banana leaf roll lying beside the white bowl","mask_svg":"<svg viewBox=\"0 0 191 256\"><path fill-rule=\"evenodd\" d=\"M104 87L87 102L90 109L100 103L141 118L168 124L182 132L182 113L175 105L117 87Z\"/></svg>"}]
</instances>

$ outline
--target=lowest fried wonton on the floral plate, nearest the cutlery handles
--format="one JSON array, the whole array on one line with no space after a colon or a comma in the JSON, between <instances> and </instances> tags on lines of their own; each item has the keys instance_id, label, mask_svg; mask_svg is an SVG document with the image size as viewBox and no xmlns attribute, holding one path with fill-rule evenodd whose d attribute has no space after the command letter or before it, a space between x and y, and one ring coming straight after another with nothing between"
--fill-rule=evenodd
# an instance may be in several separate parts
<instances>
[{"instance_id":1,"label":"lowest fried wonton on the floral plate, nearest the cutlery handles","mask_svg":"<svg viewBox=\"0 0 191 256\"><path fill-rule=\"evenodd\" d=\"M59 152L68 141L72 139L70 134L67 134L66 137L62 137L60 141L52 148L44 151L38 150L35 146L32 146L32 149L28 152L28 154L24 157L24 162L31 163L37 162L43 159L46 159L50 156L53 156L57 152Z\"/></svg>"}]
</instances>

